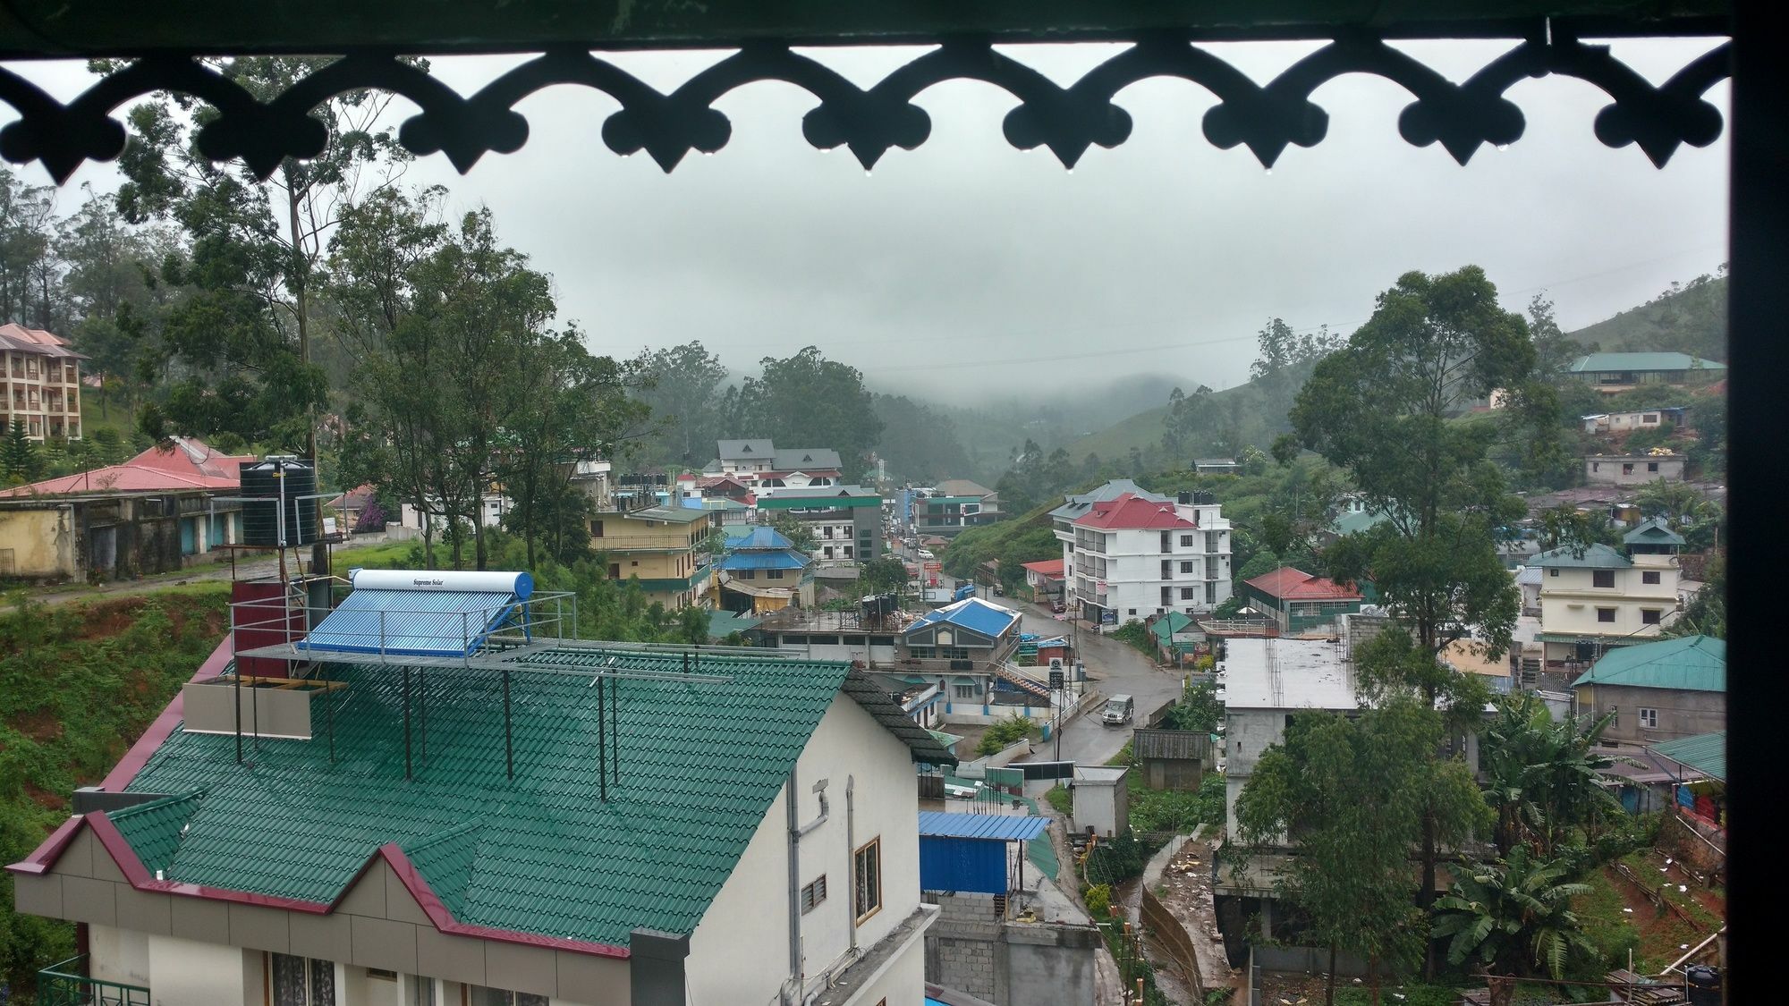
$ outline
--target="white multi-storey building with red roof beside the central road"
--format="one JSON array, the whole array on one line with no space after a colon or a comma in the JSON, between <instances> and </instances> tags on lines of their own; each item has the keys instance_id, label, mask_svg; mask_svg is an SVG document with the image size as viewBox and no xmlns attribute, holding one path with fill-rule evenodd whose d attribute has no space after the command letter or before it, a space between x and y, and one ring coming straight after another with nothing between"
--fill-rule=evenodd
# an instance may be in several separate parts
<instances>
[{"instance_id":1,"label":"white multi-storey building with red roof beside the central road","mask_svg":"<svg viewBox=\"0 0 1789 1006\"><path fill-rule=\"evenodd\" d=\"M1091 621L1202 614L1231 596L1231 523L1208 492L1115 480L1050 512L1068 603Z\"/></svg>"}]
</instances>

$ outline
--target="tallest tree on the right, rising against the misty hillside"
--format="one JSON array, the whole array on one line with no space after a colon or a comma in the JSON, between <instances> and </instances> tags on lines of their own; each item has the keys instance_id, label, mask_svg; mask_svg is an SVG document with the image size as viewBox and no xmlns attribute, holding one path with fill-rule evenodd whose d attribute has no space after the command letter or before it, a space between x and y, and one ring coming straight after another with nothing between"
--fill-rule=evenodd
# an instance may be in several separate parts
<instances>
[{"instance_id":1,"label":"tallest tree on the right, rising against the misty hillside","mask_svg":"<svg viewBox=\"0 0 1789 1006\"><path fill-rule=\"evenodd\" d=\"M1556 406L1535 378L1528 324L1497 306L1496 286L1469 265L1401 276L1372 319L1299 390L1292 408L1299 442L1347 469L1367 505L1386 516L1324 557L1331 576L1372 582L1408 632L1408 644L1381 634L1361 659L1367 693L1413 691L1454 718L1481 707L1481 686L1438 655L1467 634L1490 657L1510 648L1521 598L1496 541L1497 528L1522 519L1526 507L1487 455L1499 435L1551 442ZM1451 421L1494 390L1510 399L1503 428ZM1422 822L1419 899L1428 906L1440 822L1433 813ZM1433 963L1431 956L1431 972Z\"/></svg>"}]
</instances>

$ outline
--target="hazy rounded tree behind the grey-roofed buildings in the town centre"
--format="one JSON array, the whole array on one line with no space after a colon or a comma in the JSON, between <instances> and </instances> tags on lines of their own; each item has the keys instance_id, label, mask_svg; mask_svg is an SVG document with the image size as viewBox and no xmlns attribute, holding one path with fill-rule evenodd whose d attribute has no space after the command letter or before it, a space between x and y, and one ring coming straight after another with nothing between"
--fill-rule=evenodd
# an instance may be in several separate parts
<instances>
[{"instance_id":1,"label":"hazy rounded tree behind the grey-roofed buildings in the town centre","mask_svg":"<svg viewBox=\"0 0 1789 1006\"><path fill-rule=\"evenodd\" d=\"M844 482L857 482L882 437L882 421L857 367L809 345L794 356L760 360L764 372L739 388L737 437L773 437L791 448L832 448Z\"/></svg>"}]
</instances>

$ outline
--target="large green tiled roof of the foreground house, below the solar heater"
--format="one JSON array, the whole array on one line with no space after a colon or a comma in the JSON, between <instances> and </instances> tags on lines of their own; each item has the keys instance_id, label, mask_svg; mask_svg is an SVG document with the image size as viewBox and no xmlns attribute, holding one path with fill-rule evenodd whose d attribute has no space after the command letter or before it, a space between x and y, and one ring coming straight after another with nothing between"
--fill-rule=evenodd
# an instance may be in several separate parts
<instances>
[{"instance_id":1,"label":"large green tiled roof of the foreground house, below the solar heater","mask_svg":"<svg viewBox=\"0 0 1789 1006\"><path fill-rule=\"evenodd\" d=\"M639 671L683 661L555 650L531 664L587 669L610 657ZM315 739L261 739L240 766L233 736L175 730L129 788L204 798L114 820L170 881L313 902L333 900L395 841L460 922L626 945L635 927L694 931L841 687L914 757L954 761L878 689L862 682L861 696L843 662L703 655L699 669L732 680L617 680L621 784L606 804L589 677L512 673L510 780L501 675L411 669L406 780L404 671L335 666L329 677L349 687L313 700L336 702L333 764L326 716Z\"/></svg>"}]
</instances>

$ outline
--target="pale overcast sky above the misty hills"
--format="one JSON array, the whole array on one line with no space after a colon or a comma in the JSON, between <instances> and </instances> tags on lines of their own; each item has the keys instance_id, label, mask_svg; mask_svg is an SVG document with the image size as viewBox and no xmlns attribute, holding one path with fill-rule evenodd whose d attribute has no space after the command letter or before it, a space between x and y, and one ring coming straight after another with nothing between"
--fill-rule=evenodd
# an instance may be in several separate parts
<instances>
[{"instance_id":1,"label":"pale overcast sky above the misty hills","mask_svg":"<svg viewBox=\"0 0 1789 1006\"><path fill-rule=\"evenodd\" d=\"M1662 82L1714 45L1632 41L1615 54ZM1315 43L1213 48L1265 82ZM1508 45L1403 48L1462 81ZM1066 84L1116 50L1007 52ZM916 52L821 59L869 86ZM615 61L669 91L717 57ZM440 59L435 72L471 93L513 63ZM25 72L64 98L91 81L70 64ZM1726 95L1725 82L1708 95L1723 115ZM1546 290L1569 329L1726 258L1725 134L1657 170L1635 147L1596 141L1601 91L1524 81L1510 90L1528 115L1522 140L1462 168L1438 145L1403 141L1410 97L1395 84L1349 77L1313 98L1331 115L1327 140L1288 149L1268 174L1247 149L1204 140L1208 91L1147 81L1118 95L1131 140L1093 147L1068 174L1041 149L1005 143L1000 122L1016 104L1005 91L950 82L918 98L930 140L891 150L866 177L843 149L801 140L816 98L766 82L716 104L733 124L719 154L666 175L646 154L617 158L601 143L615 102L556 88L519 106L531 127L521 152L490 154L463 177L431 156L410 181L447 184L456 209L488 204L503 240L553 274L562 319L580 322L592 349L699 338L755 369L814 344L877 387L954 401L1131 372L1229 387L1247 378L1268 317L1352 331L1410 269L1478 263L1508 308ZM114 179L88 165L73 184Z\"/></svg>"}]
</instances>

